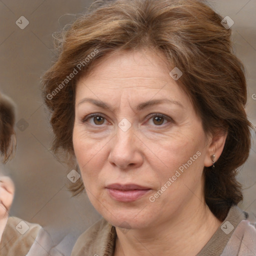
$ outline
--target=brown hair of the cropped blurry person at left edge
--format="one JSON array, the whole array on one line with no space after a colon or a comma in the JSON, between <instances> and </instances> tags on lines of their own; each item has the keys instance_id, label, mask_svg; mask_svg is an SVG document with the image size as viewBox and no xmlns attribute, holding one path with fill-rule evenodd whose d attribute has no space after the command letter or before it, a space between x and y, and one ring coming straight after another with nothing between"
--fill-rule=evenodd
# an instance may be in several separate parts
<instances>
[{"instance_id":1,"label":"brown hair of the cropped blurry person at left edge","mask_svg":"<svg viewBox=\"0 0 256 256\"><path fill-rule=\"evenodd\" d=\"M0 154L3 163L13 156L16 148L14 105L10 98L0 93Z\"/></svg>"}]
</instances>

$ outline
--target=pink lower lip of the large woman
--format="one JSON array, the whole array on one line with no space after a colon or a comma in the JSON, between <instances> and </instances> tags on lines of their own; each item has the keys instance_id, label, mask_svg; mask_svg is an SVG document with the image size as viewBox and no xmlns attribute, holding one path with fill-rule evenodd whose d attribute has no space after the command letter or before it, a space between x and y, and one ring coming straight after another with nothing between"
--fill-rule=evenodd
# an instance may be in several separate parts
<instances>
[{"instance_id":1,"label":"pink lower lip of the large woman","mask_svg":"<svg viewBox=\"0 0 256 256\"><path fill-rule=\"evenodd\" d=\"M130 202L140 198L151 189L119 190L107 188L107 190L113 199L120 202Z\"/></svg>"}]
</instances>

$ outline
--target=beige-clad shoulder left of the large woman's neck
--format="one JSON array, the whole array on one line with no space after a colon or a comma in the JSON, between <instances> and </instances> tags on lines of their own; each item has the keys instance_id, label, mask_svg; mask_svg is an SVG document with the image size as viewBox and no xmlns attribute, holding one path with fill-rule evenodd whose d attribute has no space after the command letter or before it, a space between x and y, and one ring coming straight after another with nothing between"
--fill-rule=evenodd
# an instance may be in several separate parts
<instances>
[{"instance_id":1,"label":"beige-clad shoulder left of the large woman's neck","mask_svg":"<svg viewBox=\"0 0 256 256\"><path fill-rule=\"evenodd\" d=\"M78 237L71 256L101 255L112 249L114 238L114 227L101 218Z\"/></svg>"}]
</instances>

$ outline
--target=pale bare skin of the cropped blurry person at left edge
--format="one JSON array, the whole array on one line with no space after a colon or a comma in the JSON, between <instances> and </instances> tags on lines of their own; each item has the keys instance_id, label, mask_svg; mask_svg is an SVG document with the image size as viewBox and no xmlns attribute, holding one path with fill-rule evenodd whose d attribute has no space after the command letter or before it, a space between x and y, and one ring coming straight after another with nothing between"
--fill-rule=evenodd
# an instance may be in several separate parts
<instances>
[{"instance_id":1,"label":"pale bare skin of the cropped blurry person at left edge","mask_svg":"<svg viewBox=\"0 0 256 256\"><path fill-rule=\"evenodd\" d=\"M2 232L8 219L8 211L10 209L14 196L14 184L8 176L0 176L0 241Z\"/></svg>"}]
</instances>

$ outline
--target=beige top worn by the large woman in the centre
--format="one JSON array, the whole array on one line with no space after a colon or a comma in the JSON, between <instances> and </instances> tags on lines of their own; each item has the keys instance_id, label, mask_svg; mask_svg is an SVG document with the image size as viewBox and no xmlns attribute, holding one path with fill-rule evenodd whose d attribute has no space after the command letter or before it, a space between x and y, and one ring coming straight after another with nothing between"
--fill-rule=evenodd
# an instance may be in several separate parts
<instances>
[{"instance_id":1,"label":"beige top worn by the large woman in the centre","mask_svg":"<svg viewBox=\"0 0 256 256\"><path fill-rule=\"evenodd\" d=\"M255 223L254 216L249 221L248 213L232 206L196 256L256 255ZM113 256L115 239L115 227L102 218L78 237L71 256Z\"/></svg>"}]
</instances>

